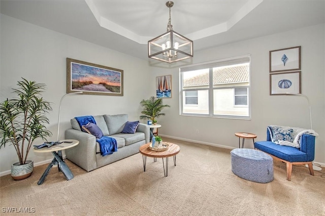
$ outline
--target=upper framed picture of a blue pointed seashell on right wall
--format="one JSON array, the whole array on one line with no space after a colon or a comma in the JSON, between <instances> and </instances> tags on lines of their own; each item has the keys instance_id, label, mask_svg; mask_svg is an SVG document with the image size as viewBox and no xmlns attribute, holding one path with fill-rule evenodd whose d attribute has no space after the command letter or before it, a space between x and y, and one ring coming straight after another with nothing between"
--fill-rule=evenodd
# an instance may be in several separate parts
<instances>
[{"instance_id":1,"label":"upper framed picture of a blue pointed seashell on right wall","mask_svg":"<svg viewBox=\"0 0 325 216\"><path fill-rule=\"evenodd\" d=\"M301 46L270 51L270 73L301 70Z\"/></svg>"}]
</instances>

